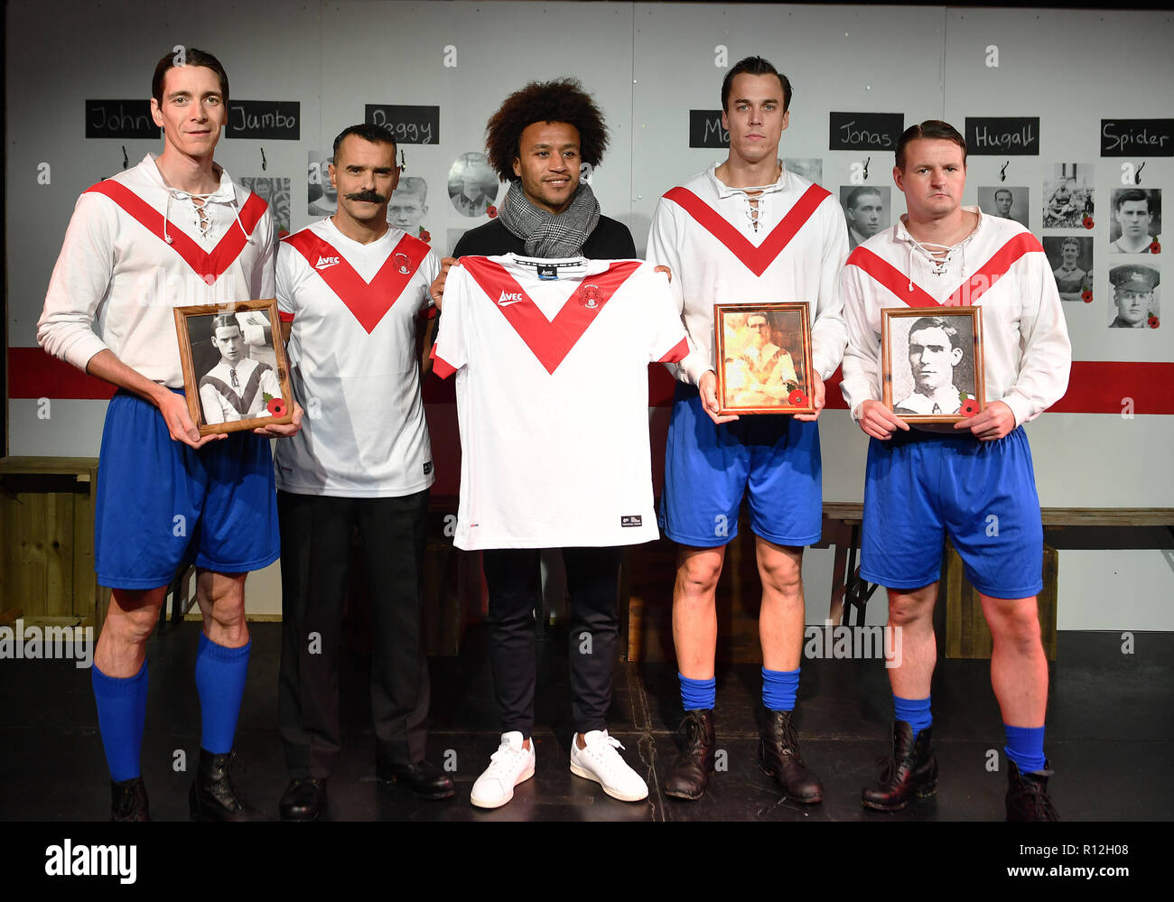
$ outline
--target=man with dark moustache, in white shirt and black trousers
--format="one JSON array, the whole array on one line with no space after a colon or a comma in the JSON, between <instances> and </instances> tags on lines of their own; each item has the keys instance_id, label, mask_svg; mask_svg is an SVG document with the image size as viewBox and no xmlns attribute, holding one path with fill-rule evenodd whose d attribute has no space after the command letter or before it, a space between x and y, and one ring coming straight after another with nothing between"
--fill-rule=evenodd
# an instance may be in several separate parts
<instances>
[{"instance_id":1,"label":"man with dark moustache, in white shirt and black trousers","mask_svg":"<svg viewBox=\"0 0 1174 902\"><path fill-rule=\"evenodd\" d=\"M338 661L355 527L375 624L377 773L423 797L453 794L451 778L424 758L420 635L433 473L416 335L440 264L387 224L399 168L385 129L344 129L333 161L338 211L284 238L277 255L294 392L310 411L303 435L277 455L285 820L318 816L342 747Z\"/></svg>"}]
</instances>

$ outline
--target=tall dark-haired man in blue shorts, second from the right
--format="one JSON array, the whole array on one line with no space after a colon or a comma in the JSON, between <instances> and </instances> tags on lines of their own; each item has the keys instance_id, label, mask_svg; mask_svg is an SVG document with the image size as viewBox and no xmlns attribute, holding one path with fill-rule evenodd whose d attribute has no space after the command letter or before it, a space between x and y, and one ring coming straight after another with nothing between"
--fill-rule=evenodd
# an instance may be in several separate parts
<instances>
[{"instance_id":1,"label":"tall dark-haired man in blue shorts, second from the right","mask_svg":"<svg viewBox=\"0 0 1174 902\"><path fill-rule=\"evenodd\" d=\"M790 81L762 58L735 65L722 83L729 156L666 194L648 236L649 261L673 270L693 346L677 368L661 499L661 526L681 546L673 640L686 742L666 782L666 792L680 799L700 799L714 769L715 590L747 492L762 575L761 762L789 799L823 797L819 778L799 755L791 714L805 621L803 546L819 540L823 519L815 420L823 379L839 365L846 341L839 269L848 230L831 194L785 171L778 160L790 100ZM714 304L784 298L809 304L816 412L718 417Z\"/></svg>"}]
</instances>

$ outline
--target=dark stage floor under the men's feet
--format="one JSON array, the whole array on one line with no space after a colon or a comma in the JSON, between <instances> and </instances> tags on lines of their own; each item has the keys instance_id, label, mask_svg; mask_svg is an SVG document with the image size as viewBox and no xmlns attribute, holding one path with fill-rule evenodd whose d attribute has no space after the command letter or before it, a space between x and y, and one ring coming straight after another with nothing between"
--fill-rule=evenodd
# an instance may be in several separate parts
<instances>
[{"instance_id":1,"label":"dark stage floor under the men's feet","mask_svg":"<svg viewBox=\"0 0 1174 902\"><path fill-rule=\"evenodd\" d=\"M149 646L150 695L143 776L156 820L187 819L188 786L198 756L200 715L193 682L198 625L184 622ZM818 806L780 801L756 766L761 678L751 665L718 671L718 748L728 770L699 802L667 799L662 782L676 752L680 718L675 668L616 668L612 733L646 778L647 802L609 799L567 769L572 727L565 640L540 642L538 772L495 812L468 792L498 746L488 664L480 628L459 658L432 659L430 758L456 763L456 799L417 801L375 778L365 661L343 676L345 750L330 781L331 820L421 821L994 821L1004 816L1003 731L986 661L939 661L933 688L937 797L898 814L865 812L861 787L885 752L891 696L879 661L809 660L803 665L799 729L808 763L823 778ZM286 782L277 722L279 625L252 625L249 684L237 732L235 779L247 797L276 817ZM1139 633L1122 654L1120 633L1061 633L1052 668L1047 752L1052 799L1066 821L1168 820L1174 802L1174 635ZM176 752L187 754L177 773ZM989 769L996 759L998 772ZM0 819L86 821L109 816L90 675L73 661L0 660Z\"/></svg>"}]
</instances>

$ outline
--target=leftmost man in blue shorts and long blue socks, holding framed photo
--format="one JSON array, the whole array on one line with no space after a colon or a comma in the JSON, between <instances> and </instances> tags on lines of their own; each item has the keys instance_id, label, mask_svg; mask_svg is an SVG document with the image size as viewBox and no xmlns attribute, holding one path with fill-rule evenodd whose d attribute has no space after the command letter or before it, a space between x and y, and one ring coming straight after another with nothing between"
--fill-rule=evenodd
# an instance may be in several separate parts
<instances>
[{"instance_id":1,"label":"leftmost man in blue shorts and long blue socks, holding framed photo","mask_svg":"<svg viewBox=\"0 0 1174 902\"><path fill-rule=\"evenodd\" d=\"M94 563L112 586L94 655L97 721L114 820L149 820L140 749L147 713L146 645L178 567L196 565L204 624L196 655L202 735L190 813L255 814L229 778L249 664L244 579L277 559L269 438L200 436L181 386L173 308L271 297L274 229L265 202L212 160L228 109L228 75L194 47L163 56L151 81L163 153L99 182L77 201L38 324L55 357L119 388L97 469Z\"/></svg>"}]
</instances>

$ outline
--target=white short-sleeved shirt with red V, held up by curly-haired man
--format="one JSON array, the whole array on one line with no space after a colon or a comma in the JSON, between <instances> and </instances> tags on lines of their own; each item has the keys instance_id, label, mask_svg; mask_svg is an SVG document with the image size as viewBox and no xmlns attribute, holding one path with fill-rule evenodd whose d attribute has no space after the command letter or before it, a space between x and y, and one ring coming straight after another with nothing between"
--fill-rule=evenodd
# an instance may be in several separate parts
<instances>
[{"instance_id":1,"label":"white short-sleeved shirt with red V, held up by curly-haired man","mask_svg":"<svg viewBox=\"0 0 1174 902\"><path fill-rule=\"evenodd\" d=\"M463 257L433 349L436 373L457 373L457 547L659 538L648 364L687 352L650 263Z\"/></svg>"}]
</instances>

